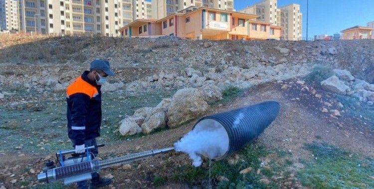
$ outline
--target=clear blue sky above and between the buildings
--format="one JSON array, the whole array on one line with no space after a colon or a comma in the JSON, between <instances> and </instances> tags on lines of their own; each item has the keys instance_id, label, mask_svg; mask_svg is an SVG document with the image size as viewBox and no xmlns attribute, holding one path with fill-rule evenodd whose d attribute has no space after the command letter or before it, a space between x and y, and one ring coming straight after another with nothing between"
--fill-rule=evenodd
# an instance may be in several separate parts
<instances>
[{"instance_id":1,"label":"clear blue sky above and between the buildings","mask_svg":"<svg viewBox=\"0 0 374 189\"><path fill-rule=\"evenodd\" d=\"M234 0L238 11L262 0ZM303 13L303 38L307 31L307 0L278 0L278 8L287 4L300 4ZM309 0L308 38L314 35L340 33L356 25L367 26L374 21L374 0Z\"/></svg>"}]
</instances>

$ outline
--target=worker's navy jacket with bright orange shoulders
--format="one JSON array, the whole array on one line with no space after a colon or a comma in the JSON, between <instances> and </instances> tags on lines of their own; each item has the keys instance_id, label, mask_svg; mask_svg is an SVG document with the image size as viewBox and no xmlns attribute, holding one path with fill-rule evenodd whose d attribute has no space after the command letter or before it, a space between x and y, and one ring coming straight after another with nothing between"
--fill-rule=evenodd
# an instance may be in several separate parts
<instances>
[{"instance_id":1,"label":"worker's navy jacket with bright orange shoulders","mask_svg":"<svg viewBox=\"0 0 374 189\"><path fill-rule=\"evenodd\" d=\"M75 145L100 136L101 86L88 80L85 71L66 88L67 131Z\"/></svg>"}]
</instances>

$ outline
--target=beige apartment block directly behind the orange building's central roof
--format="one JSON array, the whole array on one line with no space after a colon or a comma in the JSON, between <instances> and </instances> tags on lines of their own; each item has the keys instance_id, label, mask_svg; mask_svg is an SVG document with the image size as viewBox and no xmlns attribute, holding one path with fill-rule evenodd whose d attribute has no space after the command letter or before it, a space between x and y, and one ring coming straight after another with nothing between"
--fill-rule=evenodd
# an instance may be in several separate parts
<instances>
[{"instance_id":1,"label":"beige apartment block directly behind the orange building's central roof","mask_svg":"<svg viewBox=\"0 0 374 189\"><path fill-rule=\"evenodd\" d=\"M190 6L234 10L234 0L152 0L152 18L161 19Z\"/></svg>"}]
</instances>

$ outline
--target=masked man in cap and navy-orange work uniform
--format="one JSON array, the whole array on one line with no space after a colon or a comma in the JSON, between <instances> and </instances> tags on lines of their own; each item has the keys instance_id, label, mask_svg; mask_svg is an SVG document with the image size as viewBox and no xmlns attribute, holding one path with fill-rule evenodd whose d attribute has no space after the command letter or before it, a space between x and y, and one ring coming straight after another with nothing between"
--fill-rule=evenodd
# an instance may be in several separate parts
<instances>
[{"instance_id":1,"label":"masked man in cap and navy-orange work uniform","mask_svg":"<svg viewBox=\"0 0 374 189\"><path fill-rule=\"evenodd\" d=\"M101 125L101 85L107 76L114 76L108 61L94 60L90 71L85 71L66 88L67 128L75 153L84 153L85 147L96 146L96 137L100 136ZM90 151L94 156L98 149ZM109 185L111 179L100 178L92 174L90 188ZM78 189L88 189L87 181L77 183Z\"/></svg>"}]
</instances>

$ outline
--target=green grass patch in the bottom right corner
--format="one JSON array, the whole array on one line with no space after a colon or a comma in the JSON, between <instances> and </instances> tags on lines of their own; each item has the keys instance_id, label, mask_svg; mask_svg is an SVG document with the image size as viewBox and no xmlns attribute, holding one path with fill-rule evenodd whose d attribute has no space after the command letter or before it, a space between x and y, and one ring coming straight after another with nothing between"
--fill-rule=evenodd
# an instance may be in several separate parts
<instances>
[{"instance_id":1,"label":"green grass patch in the bottom right corner","mask_svg":"<svg viewBox=\"0 0 374 189\"><path fill-rule=\"evenodd\" d=\"M305 169L297 173L304 186L326 188L374 188L374 160L326 143L306 144L314 161L304 161ZM317 159L316 159L317 158Z\"/></svg>"}]
</instances>

